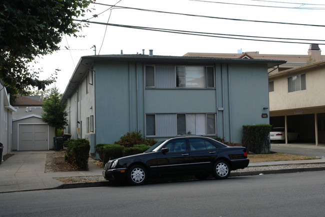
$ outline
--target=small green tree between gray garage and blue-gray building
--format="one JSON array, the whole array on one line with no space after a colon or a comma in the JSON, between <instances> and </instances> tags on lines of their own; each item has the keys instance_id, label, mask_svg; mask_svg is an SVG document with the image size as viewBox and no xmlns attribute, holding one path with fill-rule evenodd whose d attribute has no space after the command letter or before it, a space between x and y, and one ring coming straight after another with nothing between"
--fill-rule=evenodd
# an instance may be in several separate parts
<instances>
[{"instance_id":1,"label":"small green tree between gray garage and blue-gray building","mask_svg":"<svg viewBox=\"0 0 325 217\"><path fill-rule=\"evenodd\" d=\"M49 126L54 127L55 136L57 136L57 129L64 129L67 125L66 104L61 103L61 97L62 94L59 93L58 88L53 87L50 89L49 95L44 99L44 104L42 105L42 120Z\"/></svg>"}]
</instances>

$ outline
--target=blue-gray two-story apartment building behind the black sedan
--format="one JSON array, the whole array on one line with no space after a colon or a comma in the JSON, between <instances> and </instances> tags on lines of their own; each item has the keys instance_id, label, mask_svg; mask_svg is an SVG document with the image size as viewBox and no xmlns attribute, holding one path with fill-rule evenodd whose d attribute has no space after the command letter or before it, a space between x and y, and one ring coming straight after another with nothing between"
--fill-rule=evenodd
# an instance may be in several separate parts
<instances>
[{"instance_id":1,"label":"blue-gray two-story apartment building behind the black sedan","mask_svg":"<svg viewBox=\"0 0 325 217\"><path fill-rule=\"evenodd\" d=\"M151 51L152 52L152 51ZM241 143L242 125L267 124L267 68L284 61L150 55L81 57L62 101L65 132L98 143L141 131L158 140L219 135Z\"/></svg>"}]
</instances>

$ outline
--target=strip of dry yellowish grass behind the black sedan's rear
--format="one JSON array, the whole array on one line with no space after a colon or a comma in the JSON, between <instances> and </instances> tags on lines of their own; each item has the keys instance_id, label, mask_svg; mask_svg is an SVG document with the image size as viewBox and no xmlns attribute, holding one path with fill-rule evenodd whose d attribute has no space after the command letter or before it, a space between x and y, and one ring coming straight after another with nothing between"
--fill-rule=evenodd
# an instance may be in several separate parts
<instances>
[{"instance_id":1,"label":"strip of dry yellowish grass behind the black sedan's rear","mask_svg":"<svg viewBox=\"0 0 325 217\"><path fill-rule=\"evenodd\" d=\"M249 162L282 161L282 160L310 160L316 157L271 152L270 154L248 154Z\"/></svg>"}]
</instances>

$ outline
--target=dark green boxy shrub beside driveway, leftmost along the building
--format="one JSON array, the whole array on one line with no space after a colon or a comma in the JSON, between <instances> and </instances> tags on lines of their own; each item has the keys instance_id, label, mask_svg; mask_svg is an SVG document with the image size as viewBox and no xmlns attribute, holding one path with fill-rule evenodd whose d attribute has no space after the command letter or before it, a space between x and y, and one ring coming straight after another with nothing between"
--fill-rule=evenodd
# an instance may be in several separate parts
<instances>
[{"instance_id":1,"label":"dark green boxy shrub beside driveway, leftmost along the building","mask_svg":"<svg viewBox=\"0 0 325 217\"><path fill-rule=\"evenodd\" d=\"M64 142L67 147L64 160L78 167L88 170L90 145L86 139L70 139Z\"/></svg>"}]
</instances>

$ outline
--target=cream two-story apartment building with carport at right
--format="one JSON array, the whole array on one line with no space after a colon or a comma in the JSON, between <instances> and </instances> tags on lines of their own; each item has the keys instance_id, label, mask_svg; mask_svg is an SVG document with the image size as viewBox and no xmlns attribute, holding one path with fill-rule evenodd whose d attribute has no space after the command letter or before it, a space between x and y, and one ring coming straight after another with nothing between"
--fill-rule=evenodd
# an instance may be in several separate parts
<instances>
[{"instance_id":1,"label":"cream two-story apartment building with carport at right","mask_svg":"<svg viewBox=\"0 0 325 217\"><path fill-rule=\"evenodd\" d=\"M269 74L270 122L325 143L325 60ZM286 141L287 142L287 141Z\"/></svg>"}]
</instances>

